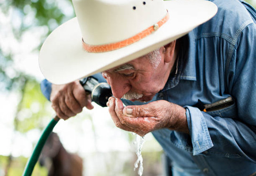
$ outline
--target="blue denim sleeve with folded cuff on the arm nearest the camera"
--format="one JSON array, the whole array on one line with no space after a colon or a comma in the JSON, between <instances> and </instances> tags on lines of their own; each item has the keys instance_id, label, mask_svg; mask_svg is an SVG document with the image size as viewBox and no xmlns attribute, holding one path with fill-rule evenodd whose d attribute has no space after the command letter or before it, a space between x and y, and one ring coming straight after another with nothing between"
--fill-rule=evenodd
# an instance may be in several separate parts
<instances>
[{"instance_id":1,"label":"blue denim sleeve with folded cuff on the arm nearest the camera","mask_svg":"<svg viewBox=\"0 0 256 176\"><path fill-rule=\"evenodd\" d=\"M234 116L210 115L185 107L193 154L222 154L256 162L256 26L249 24L238 38L226 65L226 89ZM221 114L221 113L220 113Z\"/></svg>"}]
</instances>

